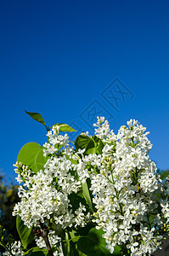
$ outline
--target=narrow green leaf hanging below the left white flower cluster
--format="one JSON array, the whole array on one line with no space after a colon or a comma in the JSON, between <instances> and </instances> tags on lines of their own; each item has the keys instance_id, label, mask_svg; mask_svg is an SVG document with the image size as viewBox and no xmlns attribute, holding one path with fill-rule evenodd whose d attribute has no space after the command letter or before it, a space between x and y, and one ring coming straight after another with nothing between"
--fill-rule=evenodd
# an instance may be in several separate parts
<instances>
[{"instance_id":1,"label":"narrow green leaf hanging below the left white flower cluster","mask_svg":"<svg viewBox=\"0 0 169 256\"><path fill-rule=\"evenodd\" d=\"M35 237L34 233L32 232L32 228L28 229L28 227L25 226L24 222L21 220L20 216L17 215L16 229L20 236L23 247L26 248L31 243L31 241L34 240Z\"/></svg>"}]
</instances>

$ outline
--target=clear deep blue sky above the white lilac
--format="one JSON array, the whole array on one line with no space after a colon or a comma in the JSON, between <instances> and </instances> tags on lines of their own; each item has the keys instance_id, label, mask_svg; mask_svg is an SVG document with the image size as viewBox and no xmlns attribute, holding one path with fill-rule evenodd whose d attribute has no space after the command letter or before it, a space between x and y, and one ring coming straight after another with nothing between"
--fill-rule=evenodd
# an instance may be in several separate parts
<instances>
[{"instance_id":1,"label":"clear deep blue sky above the white lilac","mask_svg":"<svg viewBox=\"0 0 169 256\"><path fill-rule=\"evenodd\" d=\"M96 115L115 132L138 119L150 131L150 158L169 168L168 12L165 0L1 1L0 169L8 180L20 148L47 140L24 109L79 132L92 132Z\"/></svg>"}]
</instances>

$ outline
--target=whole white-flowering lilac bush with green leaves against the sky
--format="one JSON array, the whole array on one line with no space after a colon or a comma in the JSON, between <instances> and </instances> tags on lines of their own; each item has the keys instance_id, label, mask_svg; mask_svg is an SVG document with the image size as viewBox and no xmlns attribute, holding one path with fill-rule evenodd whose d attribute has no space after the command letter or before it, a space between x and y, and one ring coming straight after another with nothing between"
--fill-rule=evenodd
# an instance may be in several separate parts
<instances>
[{"instance_id":1,"label":"whole white-flowering lilac bush with green leaves against the sky","mask_svg":"<svg viewBox=\"0 0 169 256\"><path fill-rule=\"evenodd\" d=\"M40 114L28 114L46 126ZM104 117L94 126L95 135L82 133L75 143L69 125L46 126L48 143L20 149L13 215L22 250L11 255L141 256L161 248L169 179L162 182L149 159L149 132L134 119L116 135Z\"/></svg>"}]
</instances>

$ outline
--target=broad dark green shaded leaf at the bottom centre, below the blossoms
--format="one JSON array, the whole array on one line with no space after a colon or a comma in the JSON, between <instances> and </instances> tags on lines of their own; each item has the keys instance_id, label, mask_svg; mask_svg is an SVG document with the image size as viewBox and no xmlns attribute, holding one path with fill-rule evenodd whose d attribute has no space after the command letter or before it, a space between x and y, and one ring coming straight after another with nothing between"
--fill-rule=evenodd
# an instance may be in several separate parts
<instances>
[{"instance_id":1,"label":"broad dark green shaded leaf at the bottom centre, below the blossoms","mask_svg":"<svg viewBox=\"0 0 169 256\"><path fill-rule=\"evenodd\" d=\"M108 256L112 255L108 249L106 249L106 242L102 237L103 230L96 230L93 228L87 234L87 236L81 237L77 241L77 248L87 254L87 256Z\"/></svg>"}]
</instances>

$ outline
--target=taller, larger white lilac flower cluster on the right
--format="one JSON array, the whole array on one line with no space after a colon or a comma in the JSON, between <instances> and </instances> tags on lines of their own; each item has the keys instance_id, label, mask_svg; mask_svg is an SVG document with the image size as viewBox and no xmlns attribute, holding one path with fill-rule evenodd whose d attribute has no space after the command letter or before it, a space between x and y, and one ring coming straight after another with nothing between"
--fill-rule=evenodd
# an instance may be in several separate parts
<instances>
[{"instance_id":1,"label":"taller, larger white lilac flower cluster on the right","mask_svg":"<svg viewBox=\"0 0 169 256\"><path fill-rule=\"evenodd\" d=\"M147 155L151 148L146 137L149 133L144 133L146 128L131 119L128 127L121 126L115 135L108 122L102 125L103 122L99 119L95 125L99 126L95 133L105 145L101 158L97 156L99 172L91 174L93 203L97 208L93 221L98 229L103 228L110 253L116 244L125 244L131 255L150 255L163 239L158 232L163 222L155 197L163 184L155 173L155 163ZM165 202L161 207L168 221L169 207Z\"/></svg>"}]
</instances>

